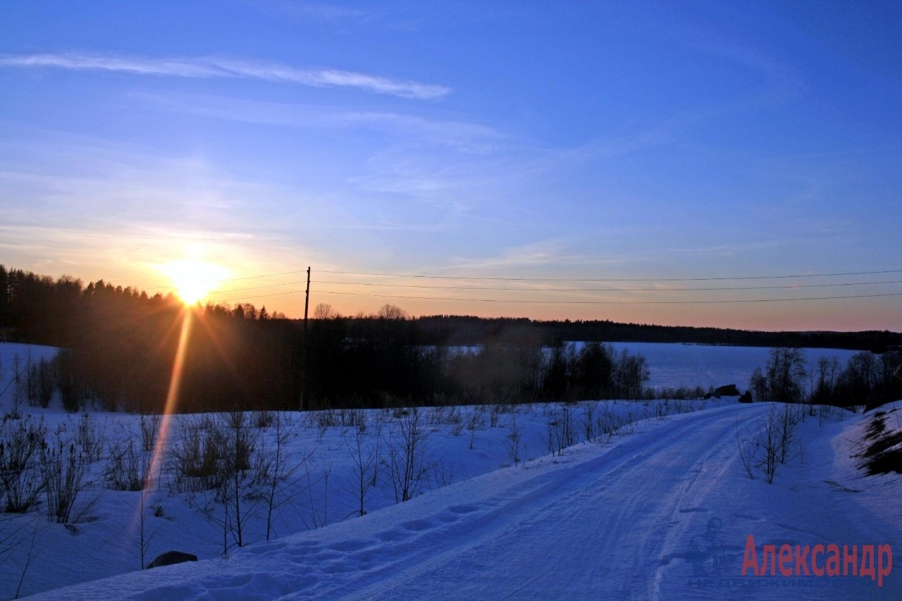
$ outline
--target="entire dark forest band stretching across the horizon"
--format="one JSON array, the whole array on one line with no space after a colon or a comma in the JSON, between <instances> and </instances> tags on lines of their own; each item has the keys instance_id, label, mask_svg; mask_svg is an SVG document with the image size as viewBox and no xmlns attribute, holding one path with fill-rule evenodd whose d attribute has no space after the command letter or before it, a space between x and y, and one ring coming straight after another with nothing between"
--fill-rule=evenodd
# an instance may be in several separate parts
<instances>
[{"instance_id":1,"label":"entire dark forest band stretching across the horizon","mask_svg":"<svg viewBox=\"0 0 902 601\"><path fill-rule=\"evenodd\" d=\"M186 308L171 294L104 281L86 286L69 276L53 279L0 265L0 340L62 348L52 365L32 365L23 357L29 397L41 404L59 389L69 411L99 402L111 411L161 412L186 319L190 332L174 408L181 412L641 399L649 394L645 359L615 353L605 342L863 351L900 342L899 334L887 331L411 318L392 305L351 317L318 304L305 321L250 304ZM834 375L842 371L831 367ZM668 393L693 397L704 391ZM833 393L822 387L820 394L830 399Z\"/></svg>"}]
</instances>

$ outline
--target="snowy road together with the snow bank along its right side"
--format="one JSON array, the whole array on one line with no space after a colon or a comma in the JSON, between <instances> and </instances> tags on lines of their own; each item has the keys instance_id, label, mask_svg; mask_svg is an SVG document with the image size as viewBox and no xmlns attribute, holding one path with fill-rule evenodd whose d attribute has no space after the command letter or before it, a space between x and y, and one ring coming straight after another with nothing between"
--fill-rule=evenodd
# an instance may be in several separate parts
<instances>
[{"instance_id":1,"label":"snowy road together with the snow bank along its right side","mask_svg":"<svg viewBox=\"0 0 902 601\"><path fill-rule=\"evenodd\" d=\"M856 545L859 563L864 545L902 550L898 476L864 478L850 458L860 417L799 424L801 454L773 485L746 475L736 432L761 427L769 409L722 404L642 421L607 444L580 444L227 559L44 598L902 597L902 568L882 587L859 576L741 574L749 535L759 560L769 544ZM694 560L698 541L716 542L716 562Z\"/></svg>"}]
</instances>

